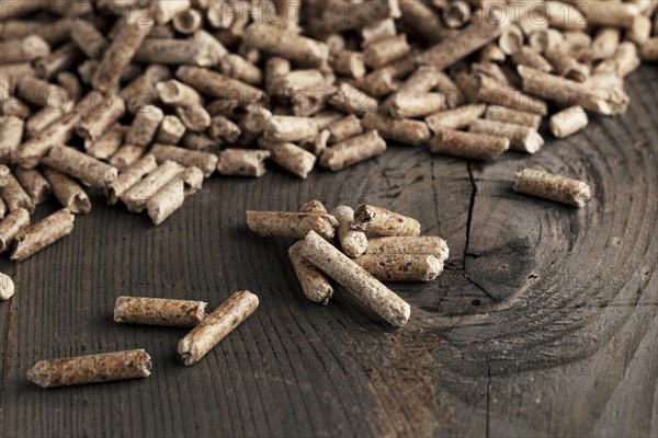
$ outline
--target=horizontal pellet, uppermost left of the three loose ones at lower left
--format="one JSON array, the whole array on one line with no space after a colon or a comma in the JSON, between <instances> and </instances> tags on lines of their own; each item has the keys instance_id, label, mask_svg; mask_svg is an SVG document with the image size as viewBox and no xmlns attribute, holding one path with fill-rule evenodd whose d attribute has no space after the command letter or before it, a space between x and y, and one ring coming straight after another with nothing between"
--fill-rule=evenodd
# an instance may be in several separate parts
<instances>
[{"instance_id":1,"label":"horizontal pellet, uppermost left of the three loose ones at lower left","mask_svg":"<svg viewBox=\"0 0 658 438\"><path fill-rule=\"evenodd\" d=\"M204 301L118 297L114 302L114 322L193 327L205 318L206 306Z\"/></svg>"}]
</instances>

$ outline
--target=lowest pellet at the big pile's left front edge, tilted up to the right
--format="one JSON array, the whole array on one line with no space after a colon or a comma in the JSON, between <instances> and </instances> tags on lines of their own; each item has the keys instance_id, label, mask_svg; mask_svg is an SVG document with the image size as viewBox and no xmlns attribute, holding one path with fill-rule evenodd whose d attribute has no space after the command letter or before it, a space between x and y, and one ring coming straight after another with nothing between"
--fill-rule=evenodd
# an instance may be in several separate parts
<instances>
[{"instance_id":1,"label":"lowest pellet at the big pile's left front edge, tilted up to the right","mask_svg":"<svg viewBox=\"0 0 658 438\"><path fill-rule=\"evenodd\" d=\"M66 208L23 229L16 235L12 261L23 261L52 245L73 230L76 217Z\"/></svg>"}]
</instances>

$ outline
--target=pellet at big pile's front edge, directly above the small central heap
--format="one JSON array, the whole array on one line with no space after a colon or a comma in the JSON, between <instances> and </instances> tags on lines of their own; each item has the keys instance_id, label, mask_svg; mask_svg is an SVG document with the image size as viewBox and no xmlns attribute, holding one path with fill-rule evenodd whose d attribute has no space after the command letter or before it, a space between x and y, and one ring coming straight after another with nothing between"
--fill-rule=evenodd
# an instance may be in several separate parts
<instances>
[{"instance_id":1,"label":"pellet at big pile's front edge, directly above the small central heap","mask_svg":"<svg viewBox=\"0 0 658 438\"><path fill-rule=\"evenodd\" d=\"M320 165L332 171L382 154L386 150L386 141L376 130L343 140L322 151Z\"/></svg>"}]
</instances>

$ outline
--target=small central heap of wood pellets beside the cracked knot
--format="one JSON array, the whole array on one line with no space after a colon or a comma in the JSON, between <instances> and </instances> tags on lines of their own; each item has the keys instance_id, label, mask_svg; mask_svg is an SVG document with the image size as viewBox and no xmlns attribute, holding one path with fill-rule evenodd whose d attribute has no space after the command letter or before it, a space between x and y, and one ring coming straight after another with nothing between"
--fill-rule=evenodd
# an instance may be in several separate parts
<instances>
[{"instance_id":1,"label":"small central heap of wood pellets beside the cracked knot","mask_svg":"<svg viewBox=\"0 0 658 438\"><path fill-rule=\"evenodd\" d=\"M248 210L247 226L262 237L297 240L288 256L306 298L327 304L334 280L396 327L411 309L382 281L431 281L449 256L443 239L420 235L418 220L367 204L330 212L319 200L299 211Z\"/></svg>"}]
</instances>

